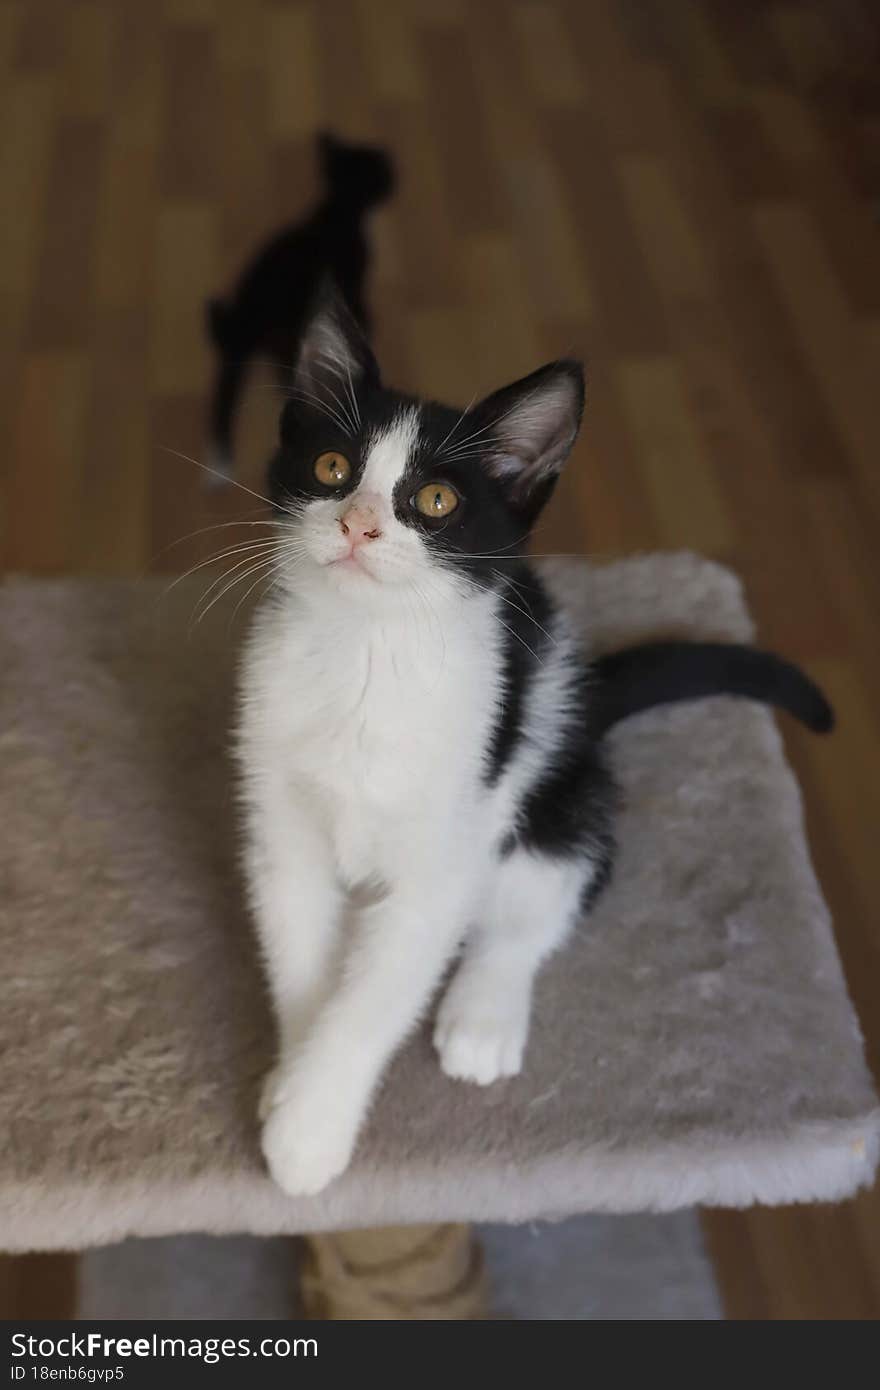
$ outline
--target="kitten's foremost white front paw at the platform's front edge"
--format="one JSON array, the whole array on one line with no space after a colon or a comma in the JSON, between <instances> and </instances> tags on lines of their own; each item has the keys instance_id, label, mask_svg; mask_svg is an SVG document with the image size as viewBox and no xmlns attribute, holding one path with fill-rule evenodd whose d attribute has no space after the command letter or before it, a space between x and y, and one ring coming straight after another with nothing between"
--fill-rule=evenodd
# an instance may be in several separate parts
<instances>
[{"instance_id":1,"label":"kitten's foremost white front paw at the platform's front edge","mask_svg":"<svg viewBox=\"0 0 880 1390\"><path fill-rule=\"evenodd\" d=\"M263 1154L285 1193L311 1197L349 1166L359 1116L327 1094L309 1099L295 1087L288 1090L278 1072L270 1072L264 1088Z\"/></svg>"}]
</instances>

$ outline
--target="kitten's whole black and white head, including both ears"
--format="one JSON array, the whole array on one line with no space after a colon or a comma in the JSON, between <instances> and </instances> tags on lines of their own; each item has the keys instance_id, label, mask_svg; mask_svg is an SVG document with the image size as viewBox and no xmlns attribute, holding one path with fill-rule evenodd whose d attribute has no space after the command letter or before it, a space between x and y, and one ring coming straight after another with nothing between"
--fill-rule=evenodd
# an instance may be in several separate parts
<instances>
[{"instance_id":1,"label":"kitten's whole black and white head, including both ears","mask_svg":"<svg viewBox=\"0 0 880 1390\"><path fill-rule=\"evenodd\" d=\"M338 309L306 334L271 470L289 525L291 588L371 607L499 581L571 446L574 363L542 368L468 411L385 389Z\"/></svg>"}]
</instances>

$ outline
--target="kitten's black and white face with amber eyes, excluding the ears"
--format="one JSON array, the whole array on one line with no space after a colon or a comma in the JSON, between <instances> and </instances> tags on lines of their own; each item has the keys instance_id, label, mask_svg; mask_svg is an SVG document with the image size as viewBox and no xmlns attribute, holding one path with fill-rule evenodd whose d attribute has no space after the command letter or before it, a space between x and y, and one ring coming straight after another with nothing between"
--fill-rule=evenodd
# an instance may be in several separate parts
<instances>
[{"instance_id":1,"label":"kitten's black and white face with amber eyes, excluding the ears","mask_svg":"<svg viewBox=\"0 0 880 1390\"><path fill-rule=\"evenodd\" d=\"M480 467L467 416L381 389L355 400L346 428L317 407L285 411L271 491L293 513L300 578L320 570L368 600L377 587L437 594L485 584L523 553L528 524Z\"/></svg>"}]
</instances>

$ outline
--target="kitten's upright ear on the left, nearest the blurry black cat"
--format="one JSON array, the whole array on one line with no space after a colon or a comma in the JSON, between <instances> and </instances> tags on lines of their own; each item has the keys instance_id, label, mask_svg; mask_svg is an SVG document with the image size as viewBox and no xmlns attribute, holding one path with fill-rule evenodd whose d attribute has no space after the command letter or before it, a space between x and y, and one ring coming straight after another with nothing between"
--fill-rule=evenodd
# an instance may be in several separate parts
<instances>
[{"instance_id":1,"label":"kitten's upright ear on the left, nearest the blurry black cat","mask_svg":"<svg viewBox=\"0 0 880 1390\"><path fill-rule=\"evenodd\" d=\"M300 338L293 389L332 402L359 382L378 385L378 363L339 291L325 284Z\"/></svg>"}]
</instances>

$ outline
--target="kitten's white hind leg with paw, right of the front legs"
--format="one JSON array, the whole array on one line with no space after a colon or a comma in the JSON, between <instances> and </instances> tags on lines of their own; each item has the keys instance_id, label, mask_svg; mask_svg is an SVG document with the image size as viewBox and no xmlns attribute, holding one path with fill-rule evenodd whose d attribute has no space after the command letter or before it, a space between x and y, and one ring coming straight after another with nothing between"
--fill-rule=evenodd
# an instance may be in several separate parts
<instances>
[{"instance_id":1,"label":"kitten's white hind leg with paw, right of the front legs","mask_svg":"<svg viewBox=\"0 0 880 1390\"><path fill-rule=\"evenodd\" d=\"M524 849L498 866L437 1015L434 1045L448 1076L488 1086L519 1074L535 974L574 926L592 872L584 859Z\"/></svg>"}]
</instances>

